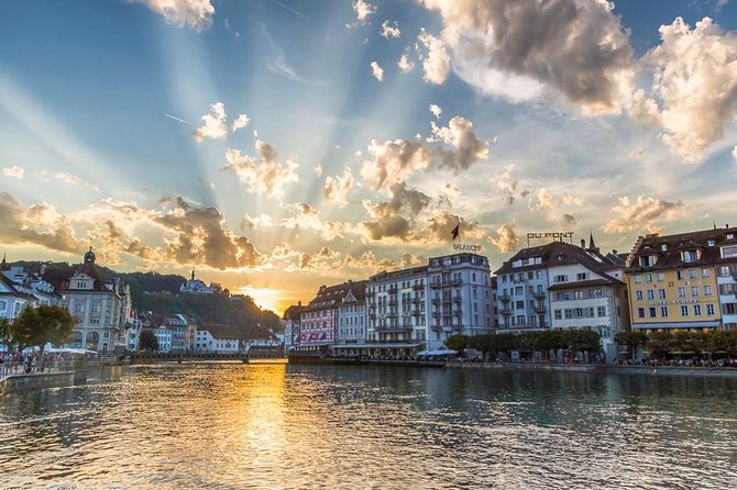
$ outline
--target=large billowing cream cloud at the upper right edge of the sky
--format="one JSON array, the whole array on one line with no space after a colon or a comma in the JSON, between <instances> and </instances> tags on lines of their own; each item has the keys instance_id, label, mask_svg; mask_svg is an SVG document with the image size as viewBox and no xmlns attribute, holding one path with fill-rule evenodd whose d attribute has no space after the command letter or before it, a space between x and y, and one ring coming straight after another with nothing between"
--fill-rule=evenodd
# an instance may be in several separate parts
<instances>
[{"instance_id":1,"label":"large billowing cream cloud at the upper right edge of the sky","mask_svg":"<svg viewBox=\"0 0 737 490\"><path fill-rule=\"evenodd\" d=\"M696 163L737 116L737 35L710 18L693 30L678 18L660 27L660 37L646 62L662 104L662 140L685 162Z\"/></svg>"}]
</instances>

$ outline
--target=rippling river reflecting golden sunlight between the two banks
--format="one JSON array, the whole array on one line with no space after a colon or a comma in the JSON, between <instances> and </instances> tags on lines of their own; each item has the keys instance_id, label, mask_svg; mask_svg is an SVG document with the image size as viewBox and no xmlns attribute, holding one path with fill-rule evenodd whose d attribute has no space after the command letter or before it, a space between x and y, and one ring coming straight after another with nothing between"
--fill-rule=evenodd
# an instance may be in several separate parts
<instances>
[{"instance_id":1,"label":"rippling river reflecting golden sunlight between the two banks","mask_svg":"<svg viewBox=\"0 0 737 490\"><path fill-rule=\"evenodd\" d=\"M0 488L735 488L737 381L156 364L0 399Z\"/></svg>"}]
</instances>

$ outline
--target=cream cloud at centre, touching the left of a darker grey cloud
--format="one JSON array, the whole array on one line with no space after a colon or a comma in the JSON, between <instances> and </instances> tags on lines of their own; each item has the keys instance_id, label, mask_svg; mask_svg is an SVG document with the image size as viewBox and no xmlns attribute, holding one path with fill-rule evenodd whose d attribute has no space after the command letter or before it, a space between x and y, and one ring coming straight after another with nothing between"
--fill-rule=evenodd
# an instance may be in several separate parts
<instances>
[{"instance_id":1,"label":"cream cloud at centre, touching the left of a darker grey cloud","mask_svg":"<svg viewBox=\"0 0 737 490\"><path fill-rule=\"evenodd\" d=\"M407 179L415 170L432 163L432 153L419 142L372 140L369 145L372 160L365 160L361 176L375 189L389 187Z\"/></svg>"}]
</instances>

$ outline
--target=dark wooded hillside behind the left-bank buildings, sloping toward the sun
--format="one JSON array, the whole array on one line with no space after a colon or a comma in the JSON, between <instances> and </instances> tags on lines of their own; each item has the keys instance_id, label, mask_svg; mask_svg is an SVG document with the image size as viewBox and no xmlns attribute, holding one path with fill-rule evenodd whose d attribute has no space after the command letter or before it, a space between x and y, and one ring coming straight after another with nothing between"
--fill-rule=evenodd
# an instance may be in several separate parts
<instances>
[{"instance_id":1,"label":"dark wooded hillside behind the left-bank buildings, sloping toward the sun","mask_svg":"<svg viewBox=\"0 0 737 490\"><path fill-rule=\"evenodd\" d=\"M46 267L68 267L67 263L42 263L19 260L11 266L22 266L26 270L37 271ZM179 294L179 287L187 279L175 274L158 272L117 272L107 267L96 266L109 277L119 277L131 287L131 297L138 311L152 311L163 314L182 313L194 318L198 324L220 323L237 328L243 338L264 338L270 330L282 331L279 318L268 310L262 310L250 297L231 297L228 290L216 286L215 294Z\"/></svg>"}]
</instances>

